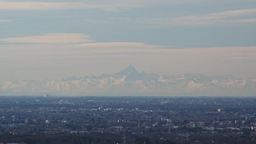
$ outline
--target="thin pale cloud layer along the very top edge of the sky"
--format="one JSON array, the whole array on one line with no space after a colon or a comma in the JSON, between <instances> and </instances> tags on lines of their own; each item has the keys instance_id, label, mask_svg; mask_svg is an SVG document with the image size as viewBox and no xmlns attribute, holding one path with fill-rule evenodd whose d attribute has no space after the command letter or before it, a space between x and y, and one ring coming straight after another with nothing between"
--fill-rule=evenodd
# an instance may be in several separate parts
<instances>
[{"instance_id":1,"label":"thin pale cloud layer along the very top edge of the sky","mask_svg":"<svg viewBox=\"0 0 256 144\"><path fill-rule=\"evenodd\" d=\"M219 2L230 3L240 2L240 0L216 0L214 2L209 1L210 4L217 4ZM154 7L155 5L166 5L166 4L194 4L202 3L205 0L94 0L84 2L43 2L43 1L0 1L0 10L48 10L48 9L102 9L108 11L116 11L119 9L130 9L130 8L144 8ZM253 0L244 0L245 2L253 2Z\"/></svg>"}]
</instances>

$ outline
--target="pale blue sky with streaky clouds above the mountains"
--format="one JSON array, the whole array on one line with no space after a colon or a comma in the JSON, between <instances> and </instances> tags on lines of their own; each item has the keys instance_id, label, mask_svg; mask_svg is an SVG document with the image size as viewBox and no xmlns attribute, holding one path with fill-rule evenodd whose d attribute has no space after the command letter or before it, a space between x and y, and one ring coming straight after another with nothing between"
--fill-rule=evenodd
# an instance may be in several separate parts
<instances>
[{"instance_id":1,"label":"pale blue sky with streaky clouds above the mountains","mask_svg":"<svg viewBox=\"0 0 256 144\"><path fill-rule=\"evenodd\" d=\"M255 0L0 0L0 82L138 71L256 77Z\"/></svg>"}]
</instances>

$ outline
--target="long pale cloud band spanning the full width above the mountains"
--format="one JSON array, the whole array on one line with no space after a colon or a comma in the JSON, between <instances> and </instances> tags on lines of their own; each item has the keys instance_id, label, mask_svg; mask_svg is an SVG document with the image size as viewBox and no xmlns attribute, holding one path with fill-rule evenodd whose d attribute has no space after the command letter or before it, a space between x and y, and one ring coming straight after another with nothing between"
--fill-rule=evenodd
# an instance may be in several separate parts
<instances>
[{"instance_id":1,"label":"long pale cloud band spanning the full width above the mountains","mask_svg":"<svg viewBox=\"0 0 256 144\"><path fill-rule=\"evenodd\" d=\"M171 56L172 58L181 57L182 59L201 59L223 57L223 59L241 58L244 59L256 57L256 47L208 47L208 48L186 48L183 49L167 49L167 46L150 45L137 42L108 42L98 43L91 39L89 35L82 33L46 33L41 35L33 35L30 37L18 38L2 38L0 39L2 50L8 49L42 49L49 47L51 52L56 49L60 53L59 48L63 48L63 53L73 55L84 55L85 53L162 53L161 55ZM8 43L8 45L5 45ZM24 43L20 45L19 43ZM74 49L75 48L75 49ZM163 49L161 49L163 48ZM72 51L71 51L72 49ZM42 51L47 51L42 49ZM44 53L44 52L42 52ZM171 58L171 59L172 59ZM213 59L210 59L211 61Z\"/></svg>"}]
</instances>

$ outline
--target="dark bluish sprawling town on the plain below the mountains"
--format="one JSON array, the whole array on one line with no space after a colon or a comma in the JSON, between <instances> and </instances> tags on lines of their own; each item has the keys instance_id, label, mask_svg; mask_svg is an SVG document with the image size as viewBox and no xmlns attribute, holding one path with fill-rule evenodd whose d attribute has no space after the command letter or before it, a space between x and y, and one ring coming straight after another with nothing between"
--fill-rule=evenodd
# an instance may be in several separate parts
<instances>
[{"instance_id":1,"label":"dark bluish sprawling town on the plain below the mountains","mask_svg":"<svg viewBox=\"0 0 256 144\"><path fill-rule=\"evenodd\" d=\"M0 143L256 143L253 97L0 97Z\"/></svg>"}]
</instances>

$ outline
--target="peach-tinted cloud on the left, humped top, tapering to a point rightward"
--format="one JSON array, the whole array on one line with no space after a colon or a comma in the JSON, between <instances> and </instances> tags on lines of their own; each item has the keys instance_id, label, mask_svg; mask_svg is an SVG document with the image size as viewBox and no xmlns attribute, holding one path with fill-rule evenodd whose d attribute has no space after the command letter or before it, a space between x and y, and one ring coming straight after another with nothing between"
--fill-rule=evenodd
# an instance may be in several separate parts
<instances>
[{"instance_id":1,"label":"peach-tinted cloud on the left, humped top, tapering to a point rightward","mask_svg":"<svg viewBox=\"0 0 256 144\"><path fill-rule=\"evenodd\" d=\"M137 49L151 49L156 47L163 47L158 45L148 45L144 43L134 43L134 42L109 42L109 43L95 43L89 35L82 33L46 33L41 35L32 35L28 37L18 37L18 38L2 38L0 42L10 43L10 44L69 44L72 47L78 48L137 48Z\"/></svg>"}]
</instances>

